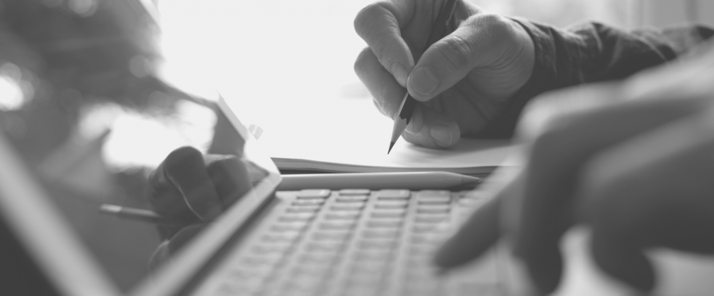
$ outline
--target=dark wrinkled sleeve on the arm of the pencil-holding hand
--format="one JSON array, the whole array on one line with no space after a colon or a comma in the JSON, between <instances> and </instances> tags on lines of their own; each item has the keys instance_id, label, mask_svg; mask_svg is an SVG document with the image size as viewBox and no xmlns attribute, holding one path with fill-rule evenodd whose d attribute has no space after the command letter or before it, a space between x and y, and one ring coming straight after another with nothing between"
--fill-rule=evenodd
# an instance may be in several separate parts
<instances>
[{"instance_id":1,"label":"dark wrinkled sleeve on the arm of the pencil-holding hand","mask_svg":"<svg viewBox=\"0 0 714 296\"><path fill-rule=\"evenodd\" d=\"M510 138L521 110L545 91L580 83L622 79L670 61L714 34L703 26L623 31L595 22L569 29L514 19L535 45L533 75L481 138Z\"/></svg>"}]
</instances>

